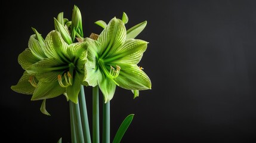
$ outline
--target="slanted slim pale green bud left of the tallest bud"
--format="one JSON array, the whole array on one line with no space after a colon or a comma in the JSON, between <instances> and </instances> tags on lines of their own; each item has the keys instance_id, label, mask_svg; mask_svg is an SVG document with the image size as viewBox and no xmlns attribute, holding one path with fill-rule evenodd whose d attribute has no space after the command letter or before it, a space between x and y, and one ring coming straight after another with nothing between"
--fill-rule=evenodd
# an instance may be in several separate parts
<instances>
[{"instance_id":1,"label":"slanted slim pale green bud left of the tallest bud","mask_svg":"<svg viewBox=\"0 0 256 143\"><path fill-rule=\"evenodd\" d=\"M70 44L72 43L72 39L69 35L69 31L66 29L65 26L63 26L63 24L61 24L60 22L58 22L58 20L56 18L54 18L54 26L55 26L55 30L57 30L58 32L60 32L61 37L63 38L63 40L67 43Z\"/></svg>"}]
</instances>

